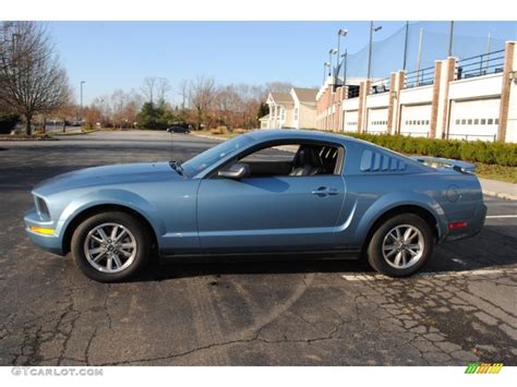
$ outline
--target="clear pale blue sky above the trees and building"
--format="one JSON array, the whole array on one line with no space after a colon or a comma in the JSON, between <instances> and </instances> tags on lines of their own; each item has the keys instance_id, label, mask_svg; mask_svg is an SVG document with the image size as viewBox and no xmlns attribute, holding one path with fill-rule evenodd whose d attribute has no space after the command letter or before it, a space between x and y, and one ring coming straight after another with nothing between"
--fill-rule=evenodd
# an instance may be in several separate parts
<instances>
[{"instance_id":1,"label":"clear pale blue sky above the trees and building","mask_svg":"<svg viewBox=\"0 0 517 387\"><path fill-rule=\"evenodd\" d=\"M390 47L390 44L397 45L393 52L401 50L399 31L406 22L374 24L382 26L374 33L374 48ZM357 21L48 22L47 25L77 101L80 83L85 81L85 105L116 88L139 89L146 76L167 77L173 87L169 95L172 101L179 100L175 86L181 80L197 75L213 76L220 84L278 81L299 87L318 87L323 62L328 60L328 50L337 46L337 31L349 31L341 39L341 52L346 48L353 53L368 45L370 28L370 22ZM449 22L422 25L431 37L446 37L449 28ZM480 45L484 45L490 33L503 43L517 38L516 25L516 22L456 22L455 36L479 37ZM395 39L397 32L398 39ZM458 46L460 50L461 44ZM378 58L375 62L373 56L372 62L375 69L400 68L398 59L395 64L387 64Z\"/></svg>"}]
</instances>

